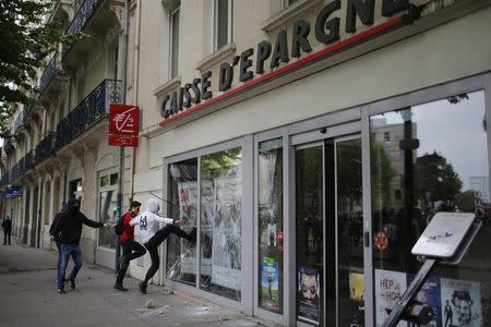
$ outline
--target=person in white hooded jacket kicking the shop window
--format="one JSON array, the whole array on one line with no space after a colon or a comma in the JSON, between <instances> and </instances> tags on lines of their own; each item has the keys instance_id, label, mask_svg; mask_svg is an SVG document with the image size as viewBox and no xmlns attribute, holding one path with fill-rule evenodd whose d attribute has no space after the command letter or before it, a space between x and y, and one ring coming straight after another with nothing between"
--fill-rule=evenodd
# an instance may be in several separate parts
<instances>
[{"instance_id":1,"label":"person in white hooded jacket kicking the shop window","mask_svg":"<svg viewBox=\"0 0 491 327\"><path fill-rule=\"evenodd\" d=\"M196 228L193 228L193 230L188 234L182 229L176 227L176 225L183 225L181 220L163 218L157 215L160 206L158 201L151 198L146 203L146 210L130 220L130 226L140 226L142 243L148 251L152 259L152 266L148 268L148 271L146 271L145 279L140 283L140 291L143 294L146 294L146 286L148 280L154 277L160 265L158 246L170 233L173 233L179 238L187 239L190 242L196 242ZM166 226L160 228L160 222L165 222Z\"/></svg>"}]
</instances>

